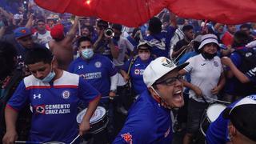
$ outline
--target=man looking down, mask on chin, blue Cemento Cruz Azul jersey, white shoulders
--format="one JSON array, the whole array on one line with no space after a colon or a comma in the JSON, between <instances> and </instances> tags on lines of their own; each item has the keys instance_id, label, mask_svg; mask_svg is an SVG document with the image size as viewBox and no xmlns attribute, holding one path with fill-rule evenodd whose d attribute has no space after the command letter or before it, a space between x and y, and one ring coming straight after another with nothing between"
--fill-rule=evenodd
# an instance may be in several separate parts
<instances>
[{"instance_id":1,"label":"man looking down, mask on chin, blue Cemento Cruz Azul jersey, white shoulders","mask_svg":"<svg viewBox=\"0 0 256 144\"><path fill-rule=\"evenodd\" d=\"M33 108L31 142L70 143L90 129L90 118L98 105L100 94L77 74L58 69L48 49L34 47L25 59L32 75L24 78L6 105L6 134L3 143L18 139L15 122L19 110L30 103ZM78 101L89 102L78 129Z\"/></svg>"}]
</instances>

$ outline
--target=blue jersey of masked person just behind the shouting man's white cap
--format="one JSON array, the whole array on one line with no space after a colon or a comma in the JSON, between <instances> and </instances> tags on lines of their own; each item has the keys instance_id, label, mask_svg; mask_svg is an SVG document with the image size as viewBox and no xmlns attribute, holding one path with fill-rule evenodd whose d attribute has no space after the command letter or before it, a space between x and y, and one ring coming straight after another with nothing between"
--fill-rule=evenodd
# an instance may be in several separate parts
<instances>
[{"instance_id":1,"label":"blue jersey of masked person just behind the shouting man's white cap","mask_svg":"<svg viewBox=\"0 0 256 144\"><path fill-rule=\"evenodd\" d=\"M153 58L151 57L146 62L142 62L141 58L137 57L135 59L134 64L130 68L130 80L132 84L132 88L135 92L135 94L141 94L144 90L147 90L146 84L143 81L143 72L146 69L146 66L150 64L150 62L153 61ZM122 70L125 70L128 72L130 66L130 60L125 63L124 66L122 66Z\"/></svg>"}]
</instances>

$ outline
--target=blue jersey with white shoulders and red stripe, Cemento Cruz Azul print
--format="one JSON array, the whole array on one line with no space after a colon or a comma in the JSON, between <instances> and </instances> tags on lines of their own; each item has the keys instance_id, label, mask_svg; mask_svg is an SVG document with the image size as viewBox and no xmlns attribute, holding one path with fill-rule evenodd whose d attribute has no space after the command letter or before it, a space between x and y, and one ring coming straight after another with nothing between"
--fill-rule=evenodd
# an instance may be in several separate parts
<instances>
[{"instance_id":1,"label":"blue jersey with white shoulders and red stripe, Cemento Cruz Azul print","mask_svg":"<svg viewBox=\"0 0 256 144\"><path fill-rule=\"evenodd\" d=\"M27 103L33 107L31 142L70 143L78 135L78 101L90 102L100 96L77 74L63 71L62 77L44 83L30 75L22 80L7 106L22 110Z\"/></svg>"}]
</instances>

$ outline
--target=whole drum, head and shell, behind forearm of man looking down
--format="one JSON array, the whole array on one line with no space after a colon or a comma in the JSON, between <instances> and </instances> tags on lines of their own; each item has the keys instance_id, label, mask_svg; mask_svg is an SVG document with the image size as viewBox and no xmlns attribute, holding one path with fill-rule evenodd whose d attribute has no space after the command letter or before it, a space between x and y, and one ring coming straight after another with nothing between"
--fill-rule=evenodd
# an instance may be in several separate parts
<instances>
[{"instance_id":1,"label":"whole drum, head and shell, behind forearm of man looking down","mask_svg":"<svg viewBox=\"0 0 256 144\"><path fill-rule=\"evenodd\" d=\"M83 116L86 114L86 109L82 110L77 116L77 122L81 123ZM102 130L106 129L109 120L106 115L106 109L102 106L98 106L93 116L90 118L90 134L98 134Z\"/></svg>"}]
</instances>

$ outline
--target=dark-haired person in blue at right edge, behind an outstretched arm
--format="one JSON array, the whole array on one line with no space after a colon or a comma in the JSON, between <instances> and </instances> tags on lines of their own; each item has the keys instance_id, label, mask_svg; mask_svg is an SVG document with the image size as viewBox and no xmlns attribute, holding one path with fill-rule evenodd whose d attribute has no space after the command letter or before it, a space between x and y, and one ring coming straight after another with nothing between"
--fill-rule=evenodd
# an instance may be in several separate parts
<instances>
[{"instance_id":1,"label":"dark-haired person in blue at right edge, behind an outstretched arm","mask_svg":"<svg viewBox=\"0 0 256 144\"><path fill-rule=\"evenodd\" d=\"M249 42L248 35L242 31L234 34L234 52L230 54L230 59L234 66L238 68L243 74L256 66L256 50L254 48L246 47ZM250 82L243 83L234 77L233 70L230 67L226 68L226 86L224 90L223 99L233 102L234 99L245 97L249 94L256 94L254 85Z\"/></svg>"}]
</instances>

